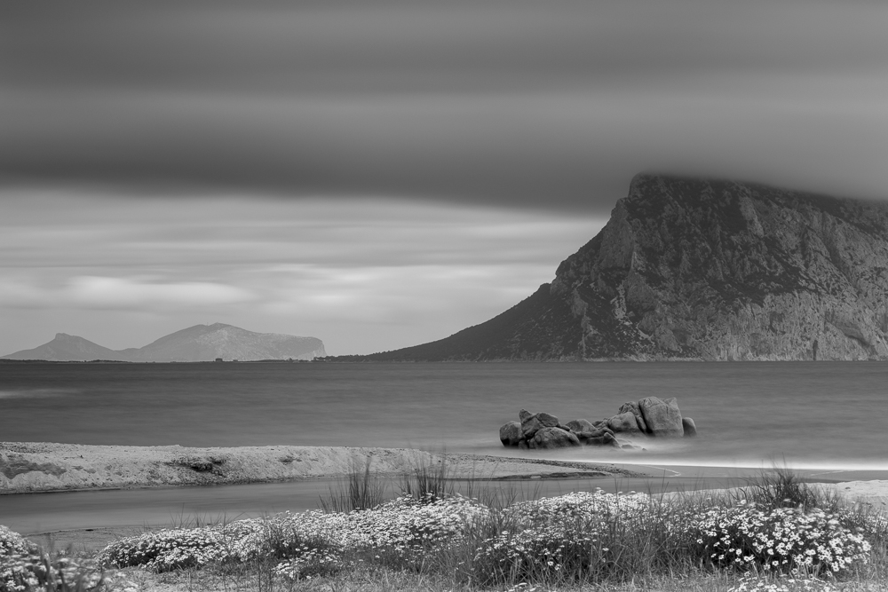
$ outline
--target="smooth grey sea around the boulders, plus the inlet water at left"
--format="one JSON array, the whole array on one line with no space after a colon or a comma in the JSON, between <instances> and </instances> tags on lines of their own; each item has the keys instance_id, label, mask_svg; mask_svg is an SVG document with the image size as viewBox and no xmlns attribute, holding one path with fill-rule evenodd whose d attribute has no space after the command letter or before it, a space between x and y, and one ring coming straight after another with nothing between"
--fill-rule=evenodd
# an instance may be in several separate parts
<instances>
[{"instance_id":1,"label":"smooth grey sea around the boulders, plus the inlet water at left","mask_svg":"<svg viewBox=\"0 0 888 592\"><path fill-rule=\"evenodd\" d=\"M681 413L694 419L697 438L648 438L639 442L644 451L519 451L499 441L500 426L517 420L522 408L561 422L596 420L616 414L626 401L651 396L678 399ZM883 471L888 363L10 363L0 364L0 440L386 446L656 467ZM314 499L315 489L325 486L311 485L305 493L309 485L303 485L298 494ZM255 514L264 508L262 496L274 500L265 509L282 509L282 500L296 494L280 485L232 487L211 494L0 496L0 524L26 510L35 516L50 509L64 513L83 495L92 500L90 511L108 520L114 504L123 503L114 522L130 517L133 524L133 508L155 502L169 514L189 496L198 503L208 495L234 495L242 503L231 504L233 511L249 506ZM159 501L163 496L170 497L167 505ZM21 501L26 499L32 501ZM181 507L188 511L185 502ZM207 511L227 508L210 504ZM75 527L83 520L44 520L26 530Z\"/></svg>"}]
</instances>

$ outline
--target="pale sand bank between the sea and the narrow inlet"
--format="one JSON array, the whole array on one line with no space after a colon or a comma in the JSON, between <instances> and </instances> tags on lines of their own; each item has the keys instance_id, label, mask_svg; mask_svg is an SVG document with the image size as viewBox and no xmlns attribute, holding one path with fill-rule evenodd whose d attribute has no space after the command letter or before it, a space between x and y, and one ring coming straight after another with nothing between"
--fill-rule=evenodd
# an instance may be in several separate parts
<instances>
[{"instance_id":1,"label":"pale sand bank between the sea and the narrow inlet","mask_svg":"<svg viewBox=\"0 0 888 592\"><path fill-rule=\"evenodd\" d=\"M83 489L234 485L330 478L363 468L401 474L446 457L457 478L638 477L613 464L428 453L408 448L333 446L85 446L0 442L0 493Z\"/></svg>"}]
</instances>

